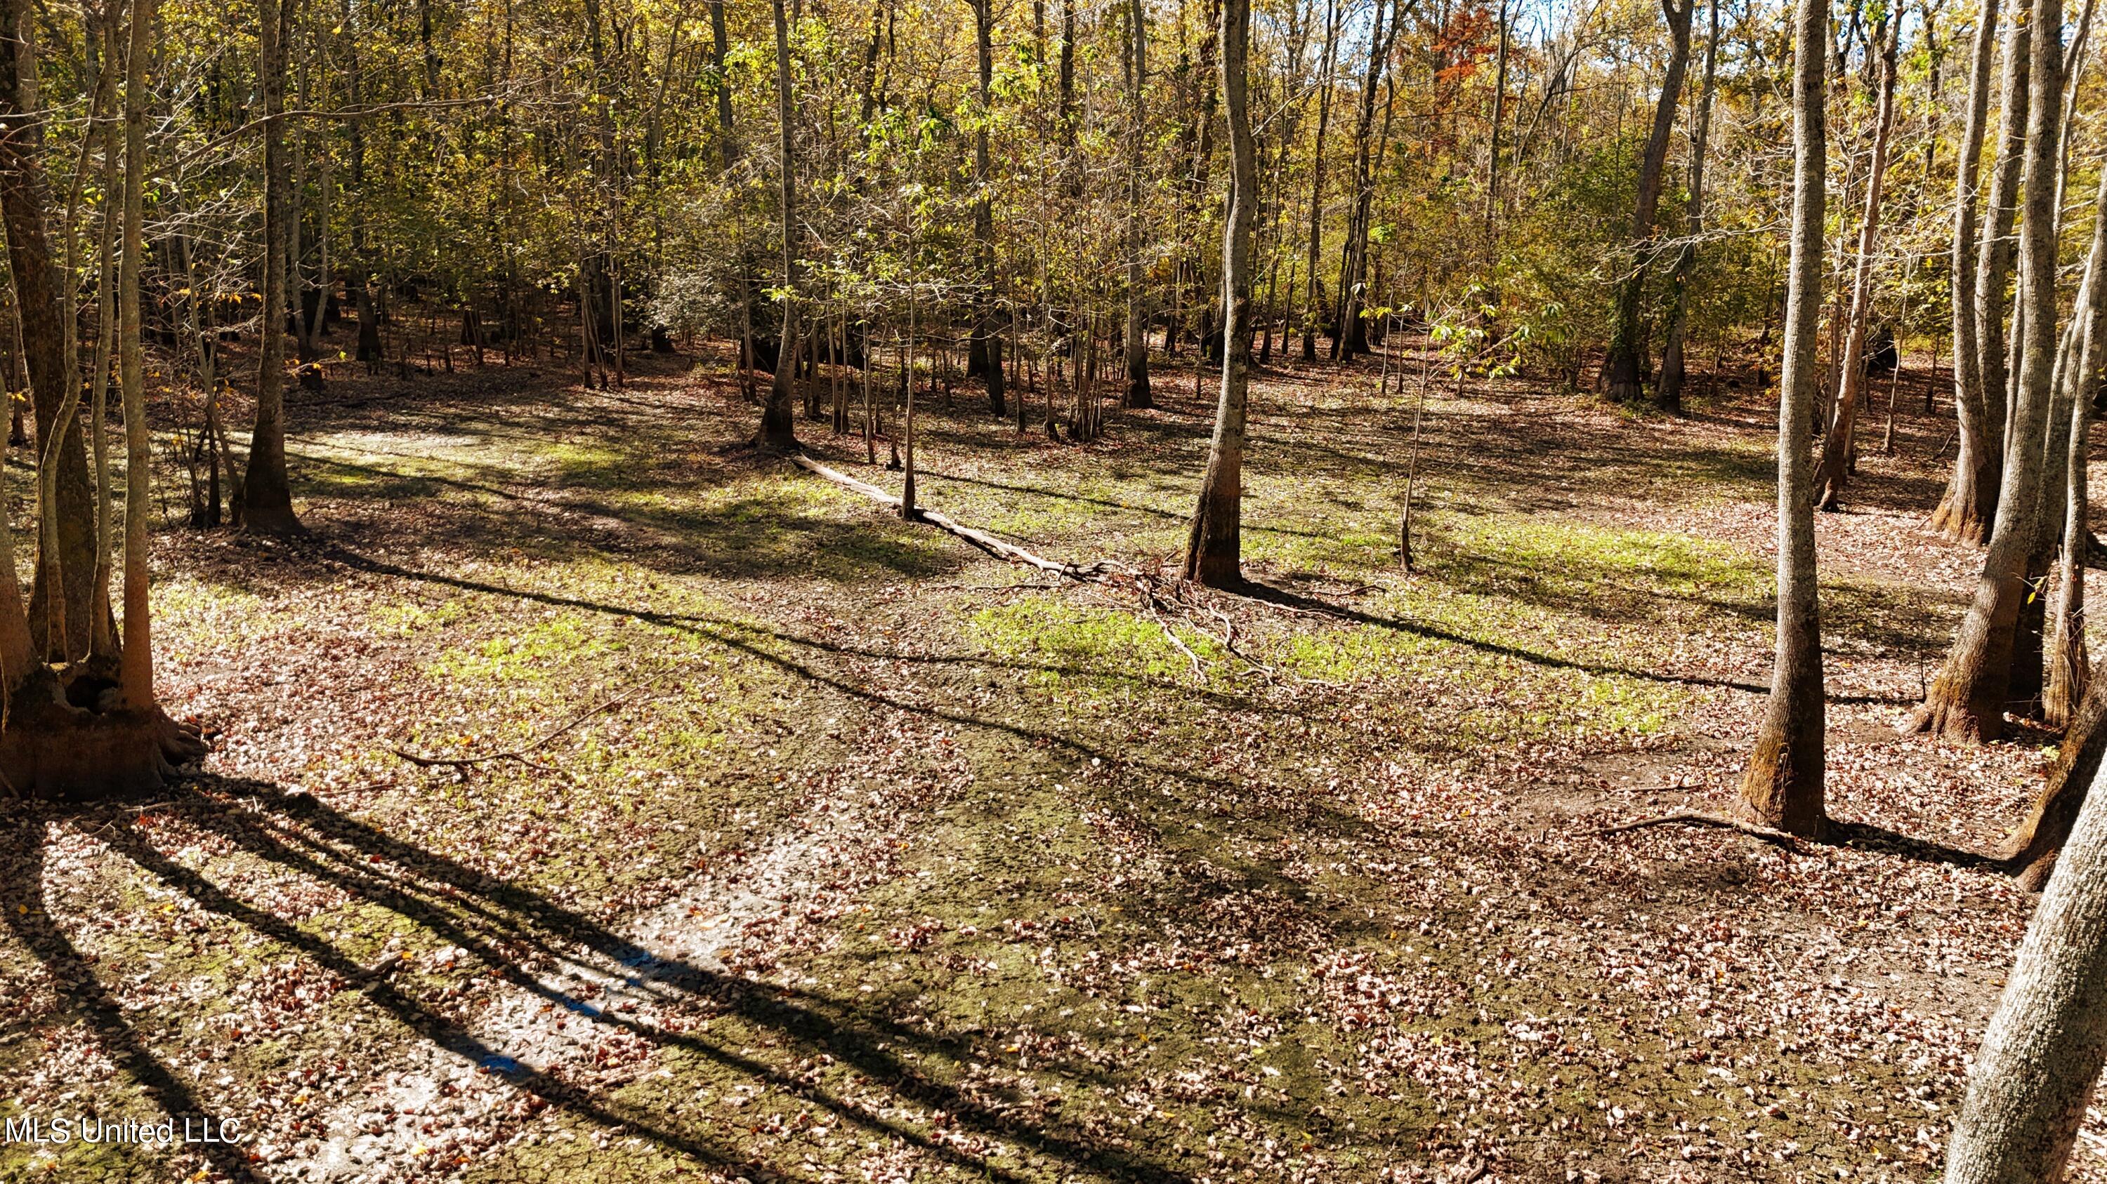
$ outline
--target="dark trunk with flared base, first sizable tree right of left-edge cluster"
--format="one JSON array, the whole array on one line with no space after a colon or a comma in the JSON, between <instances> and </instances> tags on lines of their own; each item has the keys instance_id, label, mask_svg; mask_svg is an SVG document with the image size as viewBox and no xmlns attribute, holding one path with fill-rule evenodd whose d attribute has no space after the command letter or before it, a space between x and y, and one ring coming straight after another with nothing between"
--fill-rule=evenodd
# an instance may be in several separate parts
<instances>
[{"instance_id":1,"label":"dark trunk with flared base, first sizable tree right of left-edge cluster","mask_svg":"<svg viewBox=\"0 0 2107 1184\"><path fill-rule=\"evenodd\" d=\"M263 533L299 531L293 487L284 472L284 38L295 0L263 0L259 72L263 82L263 314L257 324L257 417L242 476L242 527Z\"/></svg>"}]
</instances>

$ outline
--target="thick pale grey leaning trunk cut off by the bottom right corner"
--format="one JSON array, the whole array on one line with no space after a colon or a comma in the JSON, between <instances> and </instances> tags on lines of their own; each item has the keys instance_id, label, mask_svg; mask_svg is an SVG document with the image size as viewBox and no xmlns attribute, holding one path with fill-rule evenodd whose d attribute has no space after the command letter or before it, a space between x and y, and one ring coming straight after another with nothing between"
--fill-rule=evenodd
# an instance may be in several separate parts
<instances>
[{"instance_id":1,"label":"thick pale grey leaning trunk cut off by the bottom right corner","mask_svg":"<svg viewBox=\"0 0 2107 1184\"><path fill-rule=\"evenodd\" d=\"M1968 1072L1947 1184L2061 1180L2107 1062L2107 792L2086 796L2059 864Z\"/></svg>"}]
</instances>

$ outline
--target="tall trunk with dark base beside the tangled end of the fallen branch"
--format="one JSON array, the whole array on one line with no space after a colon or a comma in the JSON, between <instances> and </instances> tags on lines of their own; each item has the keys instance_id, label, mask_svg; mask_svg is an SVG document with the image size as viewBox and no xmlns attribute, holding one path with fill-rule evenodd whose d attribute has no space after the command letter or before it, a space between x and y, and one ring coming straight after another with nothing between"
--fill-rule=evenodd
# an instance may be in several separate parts
<instances>
[{"instance_id":1,"label":"tall trunk with dark base beside the tangled end of the fallen branch","mask_svg":"<svg viewBox=\"0 0 2107 1184\"><path fill-rule=\"evenodd\" d=\"M1228 228L1222 234L1222 400L1199 510L1186 541L1184 575L1209 588L1243 581L1243 413L1252 371L1252 223L1258 221L1258 150L1247 101L1252 0L1222 6L1222 99L1228 107Z\"/></svg>"}]
</instances>

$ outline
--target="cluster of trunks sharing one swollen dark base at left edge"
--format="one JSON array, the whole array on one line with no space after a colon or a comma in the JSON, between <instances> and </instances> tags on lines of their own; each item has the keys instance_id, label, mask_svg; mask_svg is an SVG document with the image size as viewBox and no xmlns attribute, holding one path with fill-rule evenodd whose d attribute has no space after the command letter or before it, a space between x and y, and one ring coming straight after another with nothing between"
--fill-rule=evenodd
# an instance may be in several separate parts
<instances>
[{"instance_id":1,"label":"cluster of trunks sharing one swollen dark base at left edge","mask_svg":"<svg viewBox=\"0 0 2107 1184\"><path fill-rule=\"evenodd\" d=\"M82 430L82 375L74 356L72 270L61 278L51 246L51 192L44 179L42 118L36 99L36 8L25 0L0 4L0 219L6 223L8 265L29 348L29 392L38 413L38 563L36 584L23 598L15 569L15 541L0 514L0 790L19 796L91 796L158 786L173 763L202 754L192 729L171 721L154 697L154 640L147 607L150 457L145 423L145 364L141 346L139 270L143 257L145 190L145 67L152 53L154 4L135 0L129 34L118 36L122 11L112 6L101 29L103 70L122 72L122 120L114 120L114 78L95 86L95 141L105 154L105 177L122 160L116 200L105 202L101 242L105 280L97 356L118 360L124 417L124 529L122 628L110 609L110 550L116 546L110 466L88 478L88 434L97 461L105 461L101 375ZM93 19L93 17L91 17ZM122 46L122 53L118 48ZM122 126L122 137L118 135ZM78 211L78 190L67 202L67 228ZM116 230L116 234L112 234ZM112 268L110 249L116 249ZM116 291L110 293L114 272ZM34 331L27 318L36 318ZM4 466L0 466L4 480ZM4 489L0 489L4 499Z\"/></svg>"}]
</instances>

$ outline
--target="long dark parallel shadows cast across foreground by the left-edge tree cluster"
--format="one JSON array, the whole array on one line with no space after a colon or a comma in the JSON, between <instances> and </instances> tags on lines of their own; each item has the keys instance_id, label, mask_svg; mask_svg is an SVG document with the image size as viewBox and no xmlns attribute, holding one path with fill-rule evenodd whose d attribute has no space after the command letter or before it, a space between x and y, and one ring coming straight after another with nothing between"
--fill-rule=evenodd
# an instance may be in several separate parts
<instances>
[{"instance_id":1,"label":"long dark parallel shadows cast across foreground by the left-edge tree cluster","mask_svg":"<svg viewBox=\"0 0 2107 1184\"><path fill-rule=\"evenodd\" d=\"M1030 1148L1064 1171L1087 1171L1110 1180L1188 1180L1182 1171L1146 1155L1112 1146L1081 1131L1062 1131L1056 1123L1030 1123L1005 1112L1001 1100L984 1091L965 1091L946 1083L927 1066L965 1066L976 1051L959 1039L931 1034L902 1024L885 1013L889 1001L872 996L828 996L820 992L748 982L731 973L710 971L678 959L666 959L613 933L569 908L501 879L476 872L455 860L436 855L411 843L392 838L373 826L343 815L306 794L282 794L259 782L228 782L196 777L171 801L156 803L162 811L202 826L228 838L240 851L299 876L337 885L354 897L379 904L432 944L468 950L476 973L493 975L552 1005L565 1005L573 1015L609 1032L626 1032L659 1049L700 1055L718 1068L754 1085L782 1091L801 1104L815 1106L851 1123L872 1138L900 1140L986 1180L1022 1180L978 1155L950 1146L891 1117L891 1106L872 1106L801 1072L807 1058L832 1058L853 1070L866 1085L885 1087L893 1104L908 1102L942 1110L959 1127ZM529 1098L607 1129L626 1129L653 1144L691 1157L731 1176L777 1180L780 1165L742 1155L714 1131L683 1123L676 1108L655 1108L626 1102L611 1091L563 1081L558 1074L518 1064L510 1049L497 1047L440 1007L426 1003L413 986L396 986L396 971L373 973L358 959L333 944L333 938L312 933L276 916L204 872L164 855L135 826L135 807L124 803L88 809L32 809L17 822L19 841L38 849L42 828L57 817L101 822L99 836L141 874L160 881L206 912L240 925L310 959L341 978L350 990L360 990L373 1007L432 1047L461 1058L470 1066L501 1066L495 1072ZM110 1041L120 1068L143 1093L173 1117L204 1114L198 1098L147 1049L133 1020L116 1005L95 969L72 942L51 923L42 908L40 857L13 864L15 879L0 885L0 897L34 904L25 912L8 912L8 927L36 952L61 982L80 982L70 1005L93 1022ZM771 1039L761 1043L780 1053L754 1051L718 1043L695 1030L672 1030L615 1011L582 1009L560 988L537 978L533 963L592 963L600 973L626 975L647 992L683 1001L710 1015L735 1015L746 1026ZM763 1060L769 1058L769 1060ZM204 1146L213 1167L234 1180L255 1180L247 1152L234 1146Z\"/></svg>"}]
</instances>

